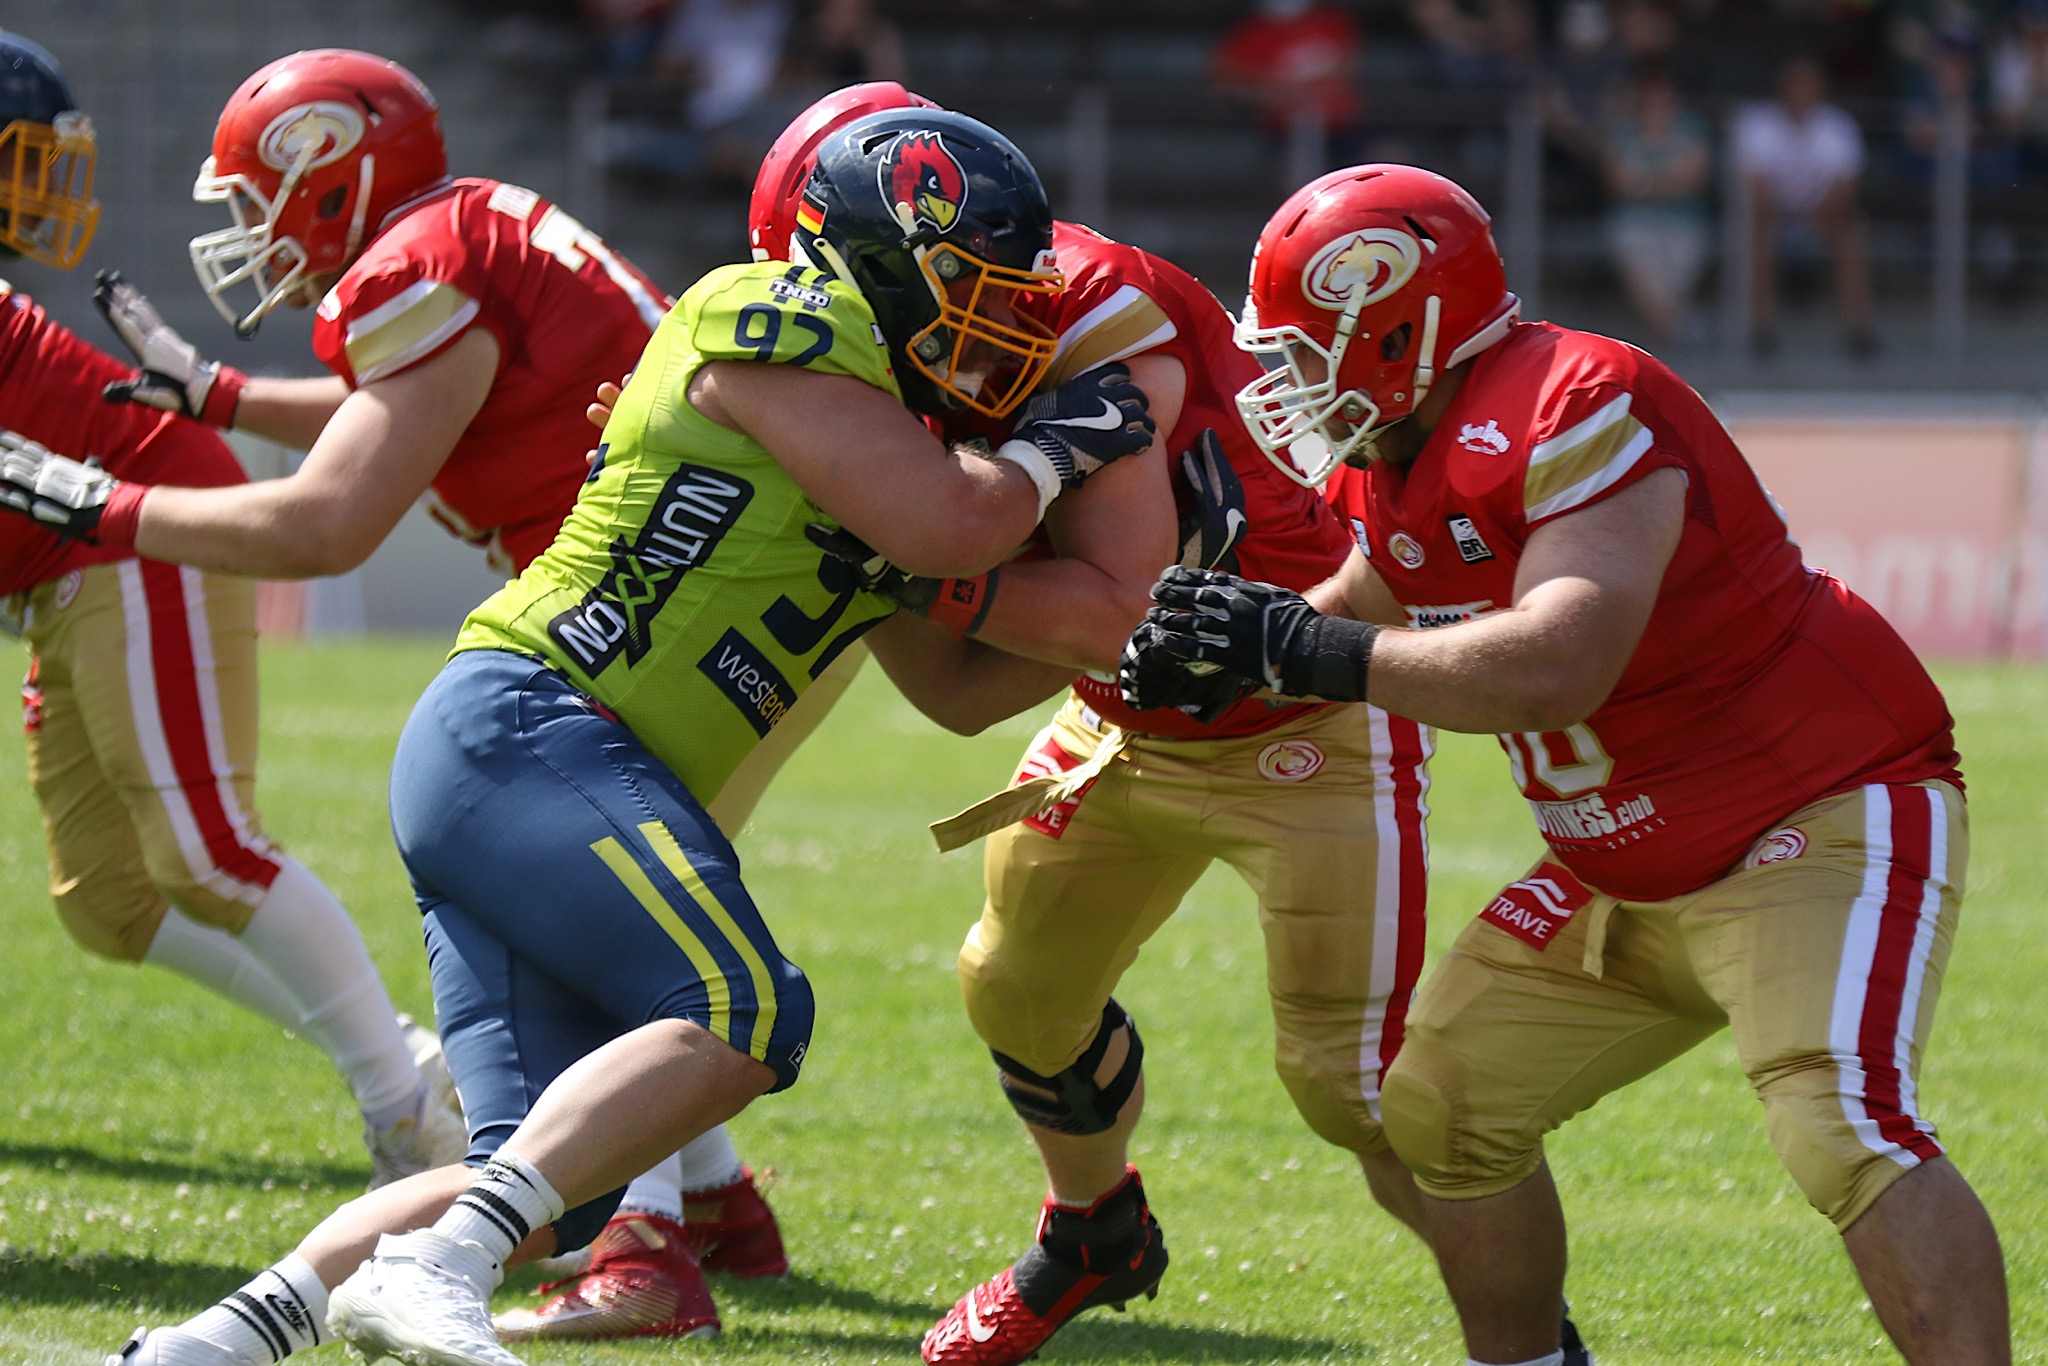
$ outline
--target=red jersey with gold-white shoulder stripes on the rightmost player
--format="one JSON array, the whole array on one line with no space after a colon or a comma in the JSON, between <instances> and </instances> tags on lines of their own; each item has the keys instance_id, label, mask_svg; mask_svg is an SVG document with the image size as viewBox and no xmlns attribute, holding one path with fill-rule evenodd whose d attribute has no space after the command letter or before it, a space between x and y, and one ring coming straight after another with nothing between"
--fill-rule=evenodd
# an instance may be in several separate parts
<instances>
[{"instance_id":1,"label":"red jersey with gold-white shoulder stripes on the rightmost player","mask_svg":"<svg viewBox=\"0 0 2048 1366\"><path fill-rule=\"evenodd\" d=\"M1720 879L1821 797L1960 784L1927 670L1800 561L1714 414L1634 346L1522 324L1473 360L1411 465L1343 469L1329 496L1409 625L1442 627L1513 604L1536 526L1657 469L1688 479L1686 528L1620 682L1569 731L1501 737L1556 858L1659 901Z\"/></svg>"}]
</instances>

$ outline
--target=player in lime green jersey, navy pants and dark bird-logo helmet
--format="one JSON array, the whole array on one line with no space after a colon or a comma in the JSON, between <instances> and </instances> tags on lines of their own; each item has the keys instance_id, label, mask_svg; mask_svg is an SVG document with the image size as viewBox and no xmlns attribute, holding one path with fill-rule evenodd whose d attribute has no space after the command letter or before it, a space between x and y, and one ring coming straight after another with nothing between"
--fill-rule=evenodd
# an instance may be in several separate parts
<instances>
[{"instance_id":1,"label":"player in lime green jersey, navy pants and dark bird-logo helmet","mask_svg":"<svg viewBox=\"0 0 2048 1366\"><path fill-rule=\"evenodd\" d=\"M1059 289L1053 215L993 129L862 119L805 211L823 260L715 270L659 326L555 545L471 614L399 739L391 821L469 1165L340 1208L113 1366L260 1366L330 1335L516 1366L487 1309L506 1264L580 1247L629 1178L797 1079L811 989L705 803L889 612L807 526L981 573L1153 436L1116 367L1024 403L1055 338L1014 299ZM1022 420L981 459L918 416L952 405Z\"/></svg>"}]
</instances>

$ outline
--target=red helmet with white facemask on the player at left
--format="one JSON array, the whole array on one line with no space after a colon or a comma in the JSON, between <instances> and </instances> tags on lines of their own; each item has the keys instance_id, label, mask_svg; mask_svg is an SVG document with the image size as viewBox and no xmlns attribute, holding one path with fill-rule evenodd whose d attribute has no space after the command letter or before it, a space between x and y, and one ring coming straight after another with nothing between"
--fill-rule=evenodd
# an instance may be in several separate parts
<instances>
[{"instance_id":1,"label":"red helmet with white facemask on the player at left","mask_svg":"<svg viewBox=\"0 0 2048 1366\"><path fill-rule=\"evenodd\" d=\"M391 209L446 182L440 111L395 61L346 47L279 57L242 82L213 129L193 199L233 227L193 238L213 307L250 336L307 276L344 270ZM254 283L256 307L225 297Z\"/></svg>"}]
</instances>

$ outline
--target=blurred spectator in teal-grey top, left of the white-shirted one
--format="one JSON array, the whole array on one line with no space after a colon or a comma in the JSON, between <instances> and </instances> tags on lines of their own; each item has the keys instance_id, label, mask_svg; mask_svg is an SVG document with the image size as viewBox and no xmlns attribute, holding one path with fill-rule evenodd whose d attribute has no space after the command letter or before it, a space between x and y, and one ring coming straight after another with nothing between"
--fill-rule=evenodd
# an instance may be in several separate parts
<instances>
[{"instance_id":1,"label":"blurred spectator in teal-grey top, left of the white-shirted one","mask_svg":"<svg viewBox=\"0 0 2048 1366\"><path fill-rule=\"evenodd\" d=\"M1706 123L1679 100L1663 68L1636 74L1608 125L1608 244L1655 344L1675 340L1706 264Z\"/></svg>"}]
</instances>

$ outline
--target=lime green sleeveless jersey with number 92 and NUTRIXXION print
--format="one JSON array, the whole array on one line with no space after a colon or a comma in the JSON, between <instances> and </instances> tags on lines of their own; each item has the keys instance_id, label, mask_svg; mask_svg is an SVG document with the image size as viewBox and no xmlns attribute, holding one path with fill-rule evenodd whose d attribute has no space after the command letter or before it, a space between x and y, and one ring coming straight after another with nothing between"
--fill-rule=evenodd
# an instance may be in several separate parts
<instances>
[{"instance_id":1,"label":"lime green sleeveless jersey with number 92 and NUTRIXXION print","mask_svg":"<svg viewBox=\"0 0 2048 1366\"><path fill-rule=\"evenodd\" d=\"M901 397L858 291L786 262L713 270L655 328L555 543L455 639L457 653L553 664L700 803L891 612L803 535L834 522L774 457L690 408L711 360L801 365Z\"/></svg>"}]
</instances>

